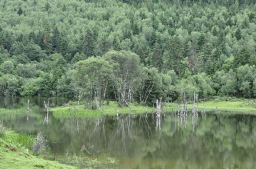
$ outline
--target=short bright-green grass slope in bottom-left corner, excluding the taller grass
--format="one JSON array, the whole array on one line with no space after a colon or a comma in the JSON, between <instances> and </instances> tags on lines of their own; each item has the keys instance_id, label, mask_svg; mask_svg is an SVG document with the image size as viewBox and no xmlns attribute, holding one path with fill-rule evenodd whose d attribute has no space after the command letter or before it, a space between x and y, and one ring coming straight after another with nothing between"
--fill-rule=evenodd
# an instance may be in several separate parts
<instances>
[{"instance_id":1,"label":"short bright-green grass slope in bottom-left corner, excluding the taller grass","mask_svg":"<svg viewBox=\"0 0 256 169\"><path fill-rule=\"evenodd\" d=\"M75 168L32 155L10 141L11 132L0 137L0 168Z\"/></svg>"}]
</instances>

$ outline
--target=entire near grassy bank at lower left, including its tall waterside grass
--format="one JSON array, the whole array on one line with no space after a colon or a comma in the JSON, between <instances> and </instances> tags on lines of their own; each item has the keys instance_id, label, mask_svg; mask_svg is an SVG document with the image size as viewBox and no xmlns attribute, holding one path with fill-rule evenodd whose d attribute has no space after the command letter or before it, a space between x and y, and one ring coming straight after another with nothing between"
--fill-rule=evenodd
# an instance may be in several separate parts
<instances>
[{"instance_id":1,"label":"entire near grassy bank at lower left, including its tall waterside grass","mask_svg":"<svg viewBox=\"0 0 256 169\"><path fill-rule=\"evenodd\" d=\"M2 133L0 136L0 168L74 168L55 161L34 156L26 146L34 138L15 132Z\"/></svg>"}]
</instances>

